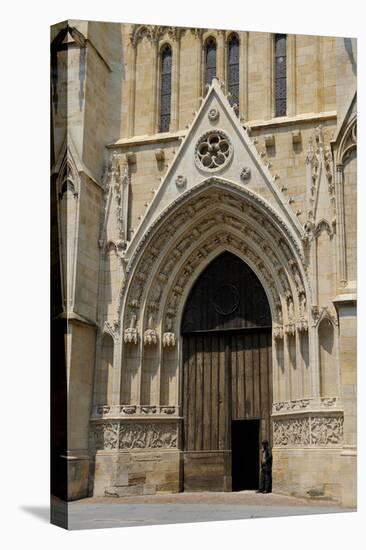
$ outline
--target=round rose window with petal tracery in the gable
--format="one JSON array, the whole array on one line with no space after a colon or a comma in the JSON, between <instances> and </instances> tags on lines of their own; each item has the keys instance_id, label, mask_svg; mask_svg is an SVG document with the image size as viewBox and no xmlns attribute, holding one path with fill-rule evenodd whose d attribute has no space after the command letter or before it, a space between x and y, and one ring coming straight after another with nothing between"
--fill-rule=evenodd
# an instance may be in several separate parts
<instances>
[{"instance_id":1,"label":"round rose window with petal tracery in the gable","mask_svg":"<svg viewBox=\"0 0 366 550\"><path fill-rule=\"evenodd\" d=\"M216 171L225 166L232 155L229 137L222 130L204 134L196 146L195 160L199 168Z\"/></svg>"}]
</instances>

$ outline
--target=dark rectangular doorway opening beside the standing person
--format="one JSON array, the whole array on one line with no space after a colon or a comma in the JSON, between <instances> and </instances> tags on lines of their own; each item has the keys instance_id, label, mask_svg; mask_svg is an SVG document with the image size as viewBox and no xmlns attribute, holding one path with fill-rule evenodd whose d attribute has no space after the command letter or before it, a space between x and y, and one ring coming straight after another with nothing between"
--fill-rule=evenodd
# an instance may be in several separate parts
<instances>
[{"instance_id":1,"label":"dark rectangular doorway opening beside the standing person","mask_svg":"<svg viewBox=\"0 0 366 550\"><path fill-rule=\"evenodd\" d=\"M233 491L258 489L259 428L259 419L231 423Z\"/></svg>"}]
</instances>

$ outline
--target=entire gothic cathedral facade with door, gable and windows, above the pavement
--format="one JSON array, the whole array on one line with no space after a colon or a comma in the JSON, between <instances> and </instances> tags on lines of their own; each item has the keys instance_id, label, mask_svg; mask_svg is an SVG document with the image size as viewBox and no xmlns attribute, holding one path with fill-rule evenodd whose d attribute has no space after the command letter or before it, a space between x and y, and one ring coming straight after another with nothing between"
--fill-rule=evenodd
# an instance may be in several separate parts
<instances>
[{"instance_id":1,"label":"entire gothic cathedral facade with door, gable and windows, above the pavement","mask_svg":"<svg viewBox=\"0 0 366 550\"><path fill-rule=\"evenodd\" d=\"M355 41L51 33L54 494L354 506Z\"/></svg>"}]
</instances>

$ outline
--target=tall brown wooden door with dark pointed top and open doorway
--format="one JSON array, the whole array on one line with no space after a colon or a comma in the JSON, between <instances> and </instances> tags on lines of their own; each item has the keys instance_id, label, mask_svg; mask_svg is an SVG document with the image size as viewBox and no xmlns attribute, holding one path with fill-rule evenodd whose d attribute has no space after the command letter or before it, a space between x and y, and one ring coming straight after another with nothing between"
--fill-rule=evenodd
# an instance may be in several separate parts
<instances>
[{"instance_id":1,"label":"tall brown wooden door with dark pointed top and open doorway","mask_svg":"<svg viewBox=\"0 0 366 550\"><path fill-rule=\"evenodd\" d=\"M183 335L185 490L258 486L271 440L271 318L253 271L224 253L188 297Z\"/></svg>"}]
</instances>

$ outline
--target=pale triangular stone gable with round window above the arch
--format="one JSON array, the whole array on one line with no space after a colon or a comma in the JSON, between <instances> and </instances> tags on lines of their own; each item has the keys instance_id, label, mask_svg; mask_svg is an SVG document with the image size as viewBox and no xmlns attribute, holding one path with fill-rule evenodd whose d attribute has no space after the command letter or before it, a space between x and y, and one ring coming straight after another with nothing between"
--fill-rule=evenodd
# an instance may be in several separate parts
<instances>
[{"instance_id":1,"label":"pale triangular stone gable with round window above the arch","mask_svg":"<svg viewBox=\"0 0 366 550\"><path fill-rule=\"evenodd\" d=\"M272 174L214 78L129 248L134 249L149 226L182 193L213 176L258 195L297 236L302 233L299 221L285 204Z\"/></svg>"}]
</instances>

